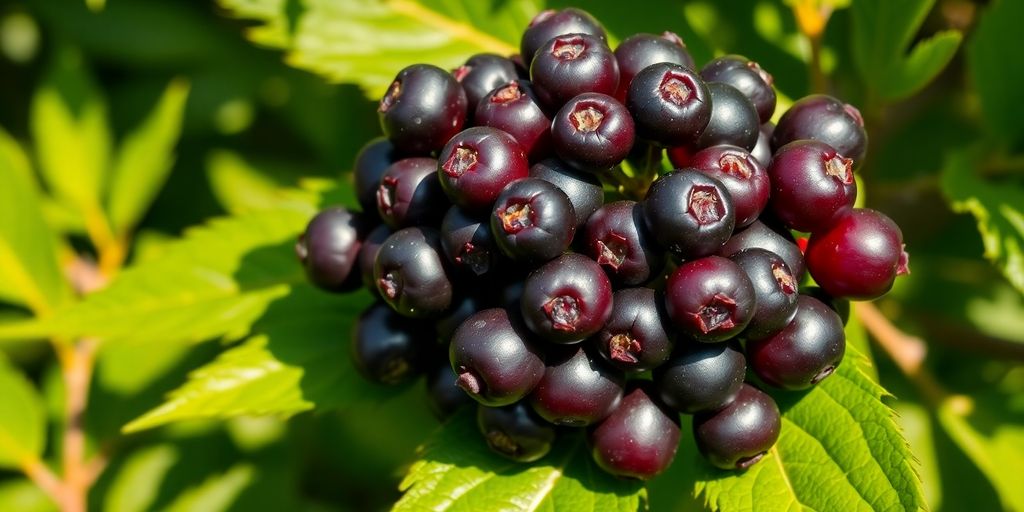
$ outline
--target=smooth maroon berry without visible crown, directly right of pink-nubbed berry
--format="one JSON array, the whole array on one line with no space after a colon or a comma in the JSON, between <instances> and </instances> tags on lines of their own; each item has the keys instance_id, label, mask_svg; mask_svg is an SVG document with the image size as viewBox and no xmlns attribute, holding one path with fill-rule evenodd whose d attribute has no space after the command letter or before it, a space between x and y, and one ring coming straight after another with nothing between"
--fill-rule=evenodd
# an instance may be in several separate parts
<instances>
[{"instance_id":1,"label":"smooth maroon berry without visible crown, directly right of pink-nubbed berry","mask_svg":"<svg viewBox=\"0 0 1024 512\"><path fill-rule=\"evenodd\" d=\"M555 425L583 427L611 414L623 399L626 378L582 345L548 357L529 404Z\"/></svg>"}]
</instances>

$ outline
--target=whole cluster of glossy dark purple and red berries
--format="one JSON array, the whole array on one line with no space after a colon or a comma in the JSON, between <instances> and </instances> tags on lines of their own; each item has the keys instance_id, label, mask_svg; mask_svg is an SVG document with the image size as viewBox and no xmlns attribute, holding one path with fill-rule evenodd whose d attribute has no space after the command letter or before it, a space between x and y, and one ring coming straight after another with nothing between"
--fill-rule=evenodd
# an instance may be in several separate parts
<instances>
[{"instance_id":1,"label":"whole cluster of glossy dark purple and red berries","mask_svg":"<svg viewBox=\"0 0 1024 512\"><path fill-rule=\"evenodd\" d=\"M321 288L377 296L352 336L362 375L425 374L437 415L474 403L505 457L585 427L600 467L646 479L686 414L712 464L746 468L779 435L762 388L827 378L845 300L907 263L899 228L853 206L856 109L774 111L744 57L697 71L672 33L612 51L590 14L544 11L520 55L402 70L355 162L362 211L321 212L298 256Z\"/></svg>"}]
</instances>

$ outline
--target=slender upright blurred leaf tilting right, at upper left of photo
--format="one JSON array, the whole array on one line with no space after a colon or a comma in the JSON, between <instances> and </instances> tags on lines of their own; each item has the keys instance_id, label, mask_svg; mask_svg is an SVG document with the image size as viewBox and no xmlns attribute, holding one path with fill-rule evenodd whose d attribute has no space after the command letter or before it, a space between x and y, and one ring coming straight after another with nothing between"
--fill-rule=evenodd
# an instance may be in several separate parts
<instances>
[{"instance_id":1,"label":"slender upright blurred leaf tilting right, at upper left of photo","mask_svg":"<svg viewBox=\"0 0 1024 512\"><path fill-rule=\"evenodd\" d=\"M174 165L188 84L172 81L156 109L121 143L111 174L108 211L118 232L127 232L156 199Z\"/></svg>"}]
</instances>

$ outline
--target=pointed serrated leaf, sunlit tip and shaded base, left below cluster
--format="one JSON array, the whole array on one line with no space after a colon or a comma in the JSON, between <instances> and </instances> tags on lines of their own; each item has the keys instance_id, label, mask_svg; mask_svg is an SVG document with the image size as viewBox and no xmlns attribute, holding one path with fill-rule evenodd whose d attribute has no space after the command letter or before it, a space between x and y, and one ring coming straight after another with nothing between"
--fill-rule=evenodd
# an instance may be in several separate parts
<instances>
[{"instance_id":1,"label":"pointed serrated leaf, sunlit tip and shaded base, left below cluster","mask_svg":"<svg viewBox=\"0 0 1024 512\"><path fill-rule=\"evenodd\" d=\"M167 401L125 431L183 420L288 417L378 399L386 389L364 382L349 355L348 333L368 303L366 294L338 297L295 287L253 328L261 334L193 372Z\"/></svg>"}]
</instances>

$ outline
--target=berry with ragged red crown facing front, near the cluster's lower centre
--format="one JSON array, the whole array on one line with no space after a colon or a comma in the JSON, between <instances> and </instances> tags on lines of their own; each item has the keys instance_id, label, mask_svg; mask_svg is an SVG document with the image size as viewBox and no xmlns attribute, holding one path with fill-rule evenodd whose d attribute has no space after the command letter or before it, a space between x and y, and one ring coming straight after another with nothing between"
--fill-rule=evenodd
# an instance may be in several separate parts
<instances>
[{"instance_id":1,"label":"berry with ragged red crown facing front, near the cluster's lower centre","mask_svg":"<svg viewBox=\"0 0 1024 512\"><path fill-rule=\"evenodd\" d=\"M611 314L611 282L594 260L564 254L526 278L520 308L526 326L541 338L583 341Z\"/></svg>"}]
</instances>

